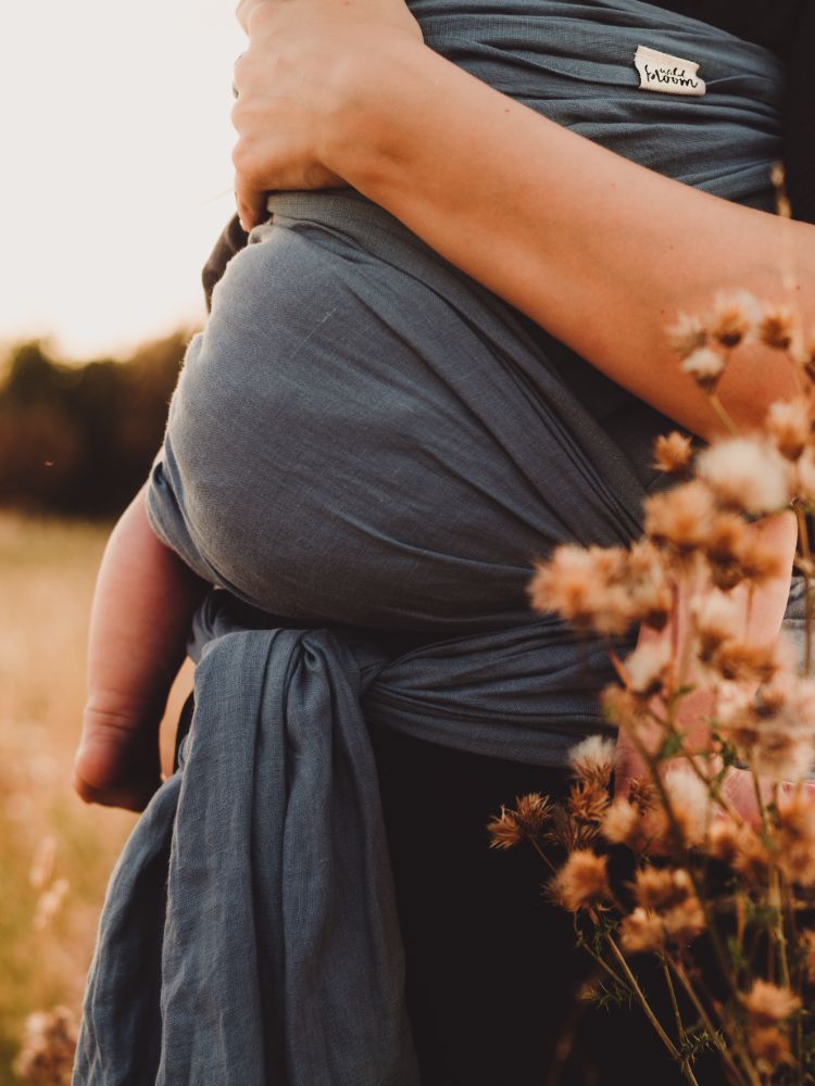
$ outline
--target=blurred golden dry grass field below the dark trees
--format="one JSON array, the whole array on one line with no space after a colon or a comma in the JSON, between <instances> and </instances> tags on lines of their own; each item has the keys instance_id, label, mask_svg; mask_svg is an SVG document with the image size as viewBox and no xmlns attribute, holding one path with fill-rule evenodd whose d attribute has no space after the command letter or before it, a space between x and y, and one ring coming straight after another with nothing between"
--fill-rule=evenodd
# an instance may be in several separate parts
<instances>
[{"instance_id":1,"label":"blurred golden dry grass field below the dark trees","mask_svg":"<svg viewBox=\"0 0 815 1086\"><path fill-rule=\"evenodd\" d=\"M29 1013L62 1005L78 1014L105 883L135 821L85 807L70 786L105 534L0 514L2 1086L20 1081L13 1063ZM183 673L168 720L189 682Z\"/></svg>"}]
</instances>

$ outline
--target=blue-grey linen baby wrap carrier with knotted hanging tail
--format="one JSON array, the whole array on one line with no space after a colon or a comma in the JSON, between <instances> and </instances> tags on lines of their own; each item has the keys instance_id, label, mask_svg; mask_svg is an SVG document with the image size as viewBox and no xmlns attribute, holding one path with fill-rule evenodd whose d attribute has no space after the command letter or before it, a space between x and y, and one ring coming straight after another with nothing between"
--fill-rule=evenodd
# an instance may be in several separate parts
<instances>
[{"instance_id":1,"label":"blue-grey linen baby wrap carrier with knotted hanging tail","mask_svg":"<svg viewBox=\"0 0 815 1086\"><path fill-rule=\"evenodd\" d=\"M761 48L639 0L411 8L557 123L772 205ZM640 89L640 46L706 93ZM417 1084L368 729L562 765L604 727L602 646L525 589L559 542L637 534L667 424L356 193L273 213L215 291L151 480L156 531L223 589L179 770L112 876L76 1084Z\"/></svg>"}]
</instances>

